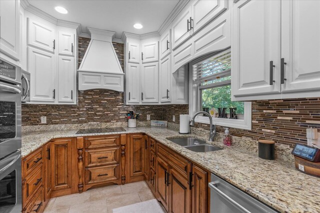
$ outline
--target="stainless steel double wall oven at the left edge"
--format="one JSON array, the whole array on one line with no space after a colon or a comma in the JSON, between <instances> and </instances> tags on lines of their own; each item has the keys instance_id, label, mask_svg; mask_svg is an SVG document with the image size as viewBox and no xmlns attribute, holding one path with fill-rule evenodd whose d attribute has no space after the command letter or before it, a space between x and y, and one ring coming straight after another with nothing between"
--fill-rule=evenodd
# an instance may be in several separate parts
<instances>
[{"instance_id":1,"label":"stainless steel double wall oven at the left edge","mask_svg":"<svg viewBox=\"0 0 320 213\"><path fill-rule=\"evenodd\" d=\"M0 58L0 213L21 212L21 69Z\"/></svg>"}]
</instances>

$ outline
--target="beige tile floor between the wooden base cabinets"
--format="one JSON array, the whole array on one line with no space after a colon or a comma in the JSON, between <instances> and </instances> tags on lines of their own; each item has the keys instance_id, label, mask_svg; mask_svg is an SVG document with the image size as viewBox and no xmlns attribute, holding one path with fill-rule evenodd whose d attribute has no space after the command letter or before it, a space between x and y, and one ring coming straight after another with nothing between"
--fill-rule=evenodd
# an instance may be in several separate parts
<instances>
[{"instance_id":1,"label":"beige tile floor between the wooden base cabinets","mask_svg":"<svg viewBox=\"0 0 320 213\"><path fill-rule=\"evenodd\" d=\"M112 213L112 209L154 199L144 181L90 189L50 199L44 213Z\"/></svg>"}]
</instances>

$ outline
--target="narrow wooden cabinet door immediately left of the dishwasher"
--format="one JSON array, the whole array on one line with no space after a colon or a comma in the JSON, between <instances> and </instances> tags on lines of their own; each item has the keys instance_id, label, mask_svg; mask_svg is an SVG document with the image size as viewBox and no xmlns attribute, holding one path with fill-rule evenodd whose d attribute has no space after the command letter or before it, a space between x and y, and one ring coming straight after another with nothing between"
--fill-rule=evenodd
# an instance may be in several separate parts
<instances>
[{"instance_id":1,"label":"narrow wooden cabinet door immediately left of the dishwasher","mask_svg":"<svg viewBox=\"0 0 320 213\"><path fill-rule=\"evenodd\" d=\"M192 213L207 212L207 173L192 166Z\"/></svg>"}]
</instances>

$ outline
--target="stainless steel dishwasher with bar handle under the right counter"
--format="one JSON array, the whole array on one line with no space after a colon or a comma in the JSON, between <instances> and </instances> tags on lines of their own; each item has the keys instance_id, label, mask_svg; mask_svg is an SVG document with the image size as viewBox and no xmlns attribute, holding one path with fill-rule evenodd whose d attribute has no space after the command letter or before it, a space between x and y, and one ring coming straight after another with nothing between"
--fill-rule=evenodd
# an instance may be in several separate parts
<instances>
[{"instance_id":1,"label":"stainless steel dishwasher with bar handle under the right counter","mask_svg":"<svg viewBox=\"0 0 320 213\"><path fill-rule=\"evenodd\" d=\"M211 174L210 213L277 213L262 202Z\"/></svg>"}]
</instances>

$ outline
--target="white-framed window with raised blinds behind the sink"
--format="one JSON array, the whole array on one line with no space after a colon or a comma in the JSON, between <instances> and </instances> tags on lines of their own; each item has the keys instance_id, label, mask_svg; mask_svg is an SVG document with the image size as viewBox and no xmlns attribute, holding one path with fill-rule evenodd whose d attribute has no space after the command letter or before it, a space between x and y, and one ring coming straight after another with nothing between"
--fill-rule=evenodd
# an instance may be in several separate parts
<instances>
[{"instance_id":1,"label":"white-framed window with raised blinds behind the sink","mask_svg":"<svg viewBox=\"0 0 320 213\"><path fill-rule=\"evenodd\" d=\"M192 89L193 103L190 114L208 111L211 108L226 108L227 118L212 118L213 124L242 129L251 129L251 103L231 101L231 51L230 48L193 61ZM196 90L196 91L194 91ZM229 119L229 108L236 108L237 119ZM192 115L190 115L192 116ZM208 123L207 117L198 116L195 120Z\"/></svg>"}]
</instances>

